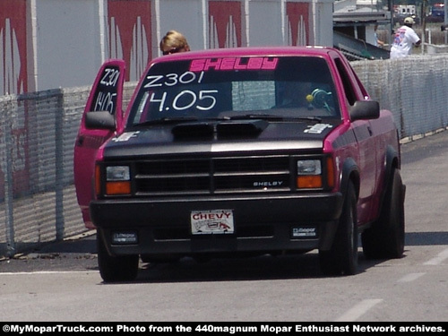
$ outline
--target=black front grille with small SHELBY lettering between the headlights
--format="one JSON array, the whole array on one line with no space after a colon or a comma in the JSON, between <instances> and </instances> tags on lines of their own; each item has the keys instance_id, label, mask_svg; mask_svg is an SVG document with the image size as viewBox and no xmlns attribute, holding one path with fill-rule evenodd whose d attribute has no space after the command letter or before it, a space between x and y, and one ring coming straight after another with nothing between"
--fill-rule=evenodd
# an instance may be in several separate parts
<instances>
[{"instance_id":1,"label":"black front grille with small SHELBY lettering between the headlights","mask_svg":"<svg viewBox=\"0 0 448 336\"><path fill-rule=\"evenodd\" d=\"M289 192L289 155L142 160L134 165L135 194L233 194Z\"/></svg>"}]
</instances>

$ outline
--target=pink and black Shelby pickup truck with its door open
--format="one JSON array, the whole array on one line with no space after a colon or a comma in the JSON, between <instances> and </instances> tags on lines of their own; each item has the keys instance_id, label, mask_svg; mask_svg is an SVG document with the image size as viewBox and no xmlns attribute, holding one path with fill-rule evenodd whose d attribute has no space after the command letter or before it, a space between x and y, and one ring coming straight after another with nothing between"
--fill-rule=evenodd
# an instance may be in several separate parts
<instances>
[{"instance_id":1,"label":"pink and black Shelby pickup truck with its door open","mask_svg":"<svg viewBox=\"0 0 448 336\"><path fill-rule=\"evenodd\" d=\"M123 111L106 62L74 147L78 202L105 281L142 262L306 253L355 274L404 249L399 134L333 48L252 47L154 59ZM219 225L217 225L219 223Z\"/></svg>"}]
</instances>

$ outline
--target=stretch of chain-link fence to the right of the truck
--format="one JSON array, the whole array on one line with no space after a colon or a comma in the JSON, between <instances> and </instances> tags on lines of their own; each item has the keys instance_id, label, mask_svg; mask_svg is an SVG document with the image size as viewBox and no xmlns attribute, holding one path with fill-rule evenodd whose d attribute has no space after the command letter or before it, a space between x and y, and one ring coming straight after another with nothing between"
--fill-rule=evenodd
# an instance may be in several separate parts
<instances>
[{"instance_id":1,"label":"stretch of chain-link fence to the right of the truck","mask_svg":"<svg viewBox=\"0 0 448 336\"><path fill-rule=\"evenodd\" d=\"M351 65L372 99L390 109L401 138L448 125L448 55L408 56Z\"/></svg>"}]
</instances>

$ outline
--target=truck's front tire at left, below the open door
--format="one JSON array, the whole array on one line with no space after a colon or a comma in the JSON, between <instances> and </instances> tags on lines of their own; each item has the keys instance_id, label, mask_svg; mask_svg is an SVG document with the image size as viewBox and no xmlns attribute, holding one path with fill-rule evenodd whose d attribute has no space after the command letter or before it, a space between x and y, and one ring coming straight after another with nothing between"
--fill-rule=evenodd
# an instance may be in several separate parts
<instances>
[{"instance_id":1,"label":"truck's front tire at left, below the open door","mask_svg":"<svg viewBox=\"0 0 448 336\"><path fill-rule=\"evenodd\" d=\"M111 256L97 234L99 274L105 282L132 281L138 273L139 256Z\"/></svg>"}]
</instances>

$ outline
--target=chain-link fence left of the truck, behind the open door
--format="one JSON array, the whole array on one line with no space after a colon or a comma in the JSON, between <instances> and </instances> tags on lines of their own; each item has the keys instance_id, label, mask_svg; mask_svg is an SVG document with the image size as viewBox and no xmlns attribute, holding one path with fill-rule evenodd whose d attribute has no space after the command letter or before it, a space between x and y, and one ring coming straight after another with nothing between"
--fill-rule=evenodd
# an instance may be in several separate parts
<instances>
[{"instance_id":1,"label":"chain-link fence left of the truck, behind the open door","mask_svg":"<svg viewBox=\"0 0 448 336\"><path fill-rule=\"evenodd\" d=\"M126 83L125 103L136 83ZM0 257L86 230L73 146L90 86L0 97Z\"/></svg>"}]
</instances>

